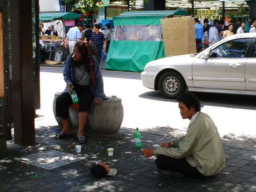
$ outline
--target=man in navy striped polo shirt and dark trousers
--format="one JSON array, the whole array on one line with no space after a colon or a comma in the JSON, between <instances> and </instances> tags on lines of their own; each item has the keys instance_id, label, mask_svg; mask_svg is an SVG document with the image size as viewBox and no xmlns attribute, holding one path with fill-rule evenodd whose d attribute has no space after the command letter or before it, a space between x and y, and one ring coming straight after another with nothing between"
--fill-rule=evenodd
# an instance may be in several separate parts
<instances>
[{"instance_id":1,"label":"man in navy striped polo shirt and dark trousers","mask_svg":"<svg viewBox=\"0 0 256 192\"><path fill-rule=\"evenodd\" d=\"M94 55L96 59L98 60L98 63L100 64L100 56L102 52L102 42L104 42L103 51L106 51L106 39L104 37L104 34L99 31L100 26L98 24L95 24L93 26L93 33L91 35L90 43L92 44L92 50L94 52Z\"/></svg>"}]
</instances>

